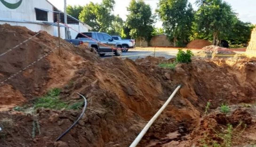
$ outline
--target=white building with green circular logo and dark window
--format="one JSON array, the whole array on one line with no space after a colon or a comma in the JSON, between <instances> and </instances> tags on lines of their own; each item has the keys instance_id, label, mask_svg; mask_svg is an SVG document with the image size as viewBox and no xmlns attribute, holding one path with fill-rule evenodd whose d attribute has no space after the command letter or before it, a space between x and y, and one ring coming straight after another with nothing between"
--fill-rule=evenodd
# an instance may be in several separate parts
<instances>
[{"instance_id":1,"label":"white building with green circular logo and dark window","mask_svg":"<svg viewBox=\"0 0 256 147\"><path fill-rule=\"evenodd\" d=\"M57 14L60 14L61 22L64 23L64 14L48 0L0 0L0 24L24 26L35 32L45 30L53 36L58 36L57 25L53 24L57 22ZM79 32L91 29L70 15L67 15L67 23ZM72 29L69 31L71 38L75 38L77 32ZM65 38L64 25L61 25L61 37Z\"/></svg>"}]
</instances>

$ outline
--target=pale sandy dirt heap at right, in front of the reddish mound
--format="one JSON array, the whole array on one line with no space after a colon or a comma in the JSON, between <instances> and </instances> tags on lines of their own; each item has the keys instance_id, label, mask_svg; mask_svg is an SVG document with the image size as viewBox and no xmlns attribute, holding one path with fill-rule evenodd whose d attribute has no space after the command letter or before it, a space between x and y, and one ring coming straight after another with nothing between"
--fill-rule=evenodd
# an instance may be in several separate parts
<instances>
[{"instance_id":1,"label":"pale sandy dirt heap at right, in front of the reddish mound","mask_svg":"<svg viewBox=\"0 0 256 147\"><path fill-rule=\"evenodd\" d=\"M205 46L197 53L199 56L208 58L231 58L236 53L230 49L219 47L216 45Z\"/></svg>"}]
</instances>

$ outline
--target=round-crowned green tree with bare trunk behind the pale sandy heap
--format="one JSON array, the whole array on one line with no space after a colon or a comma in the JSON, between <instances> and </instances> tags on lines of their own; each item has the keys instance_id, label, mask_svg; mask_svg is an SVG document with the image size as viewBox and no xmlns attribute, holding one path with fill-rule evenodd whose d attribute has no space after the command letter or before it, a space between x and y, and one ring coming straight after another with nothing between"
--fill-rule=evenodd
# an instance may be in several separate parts
<instances>
[{"instance_id":1,"label":"round-crowned green tree with bare trunk behind the pale sandy heap","mask_svg":"<svg viewBox=\"0 0 256 147\"><path fill-rule=\"evenodd\" d=\"M197 0L199 6L195 15L197 31L204 36L212 36L217 45L219 37L226 37L237 22L232 7L222 0Z\"/></svg>"}]
</instances>

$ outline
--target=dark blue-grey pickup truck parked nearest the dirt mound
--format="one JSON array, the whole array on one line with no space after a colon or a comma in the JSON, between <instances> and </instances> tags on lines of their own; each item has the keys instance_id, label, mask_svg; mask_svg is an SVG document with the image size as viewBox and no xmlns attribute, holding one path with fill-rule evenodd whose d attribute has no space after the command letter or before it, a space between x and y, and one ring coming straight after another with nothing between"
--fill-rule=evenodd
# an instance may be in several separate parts
<instances>
[{"instance_id":1,"label":"dark blue-grey pickup truck parked nearest the dirt mound","mask_svg":"<svg viewBox=\"0 0 256 147\"><path fill-rule=\"evenodd\" d=\"M96 50L100 56L104 56L106 53L121 55L122 44L106 33L84 32L77 34L75 39L65 40L75 45L85 44L88 48Z\"/></svg>"}]
</instances>

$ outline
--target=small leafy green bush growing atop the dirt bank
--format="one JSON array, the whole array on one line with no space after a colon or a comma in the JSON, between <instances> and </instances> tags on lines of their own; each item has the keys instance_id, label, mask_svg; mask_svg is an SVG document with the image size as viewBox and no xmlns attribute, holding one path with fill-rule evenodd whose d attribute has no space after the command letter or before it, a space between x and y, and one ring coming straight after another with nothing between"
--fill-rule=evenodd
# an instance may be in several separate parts
<instances>
[{"instance_id":1,"label":"small leafy green bush growing atop the dirt bank","mask_svg":"<svg viewBox=\"0 0 256 147\"><path fill-rule=\"evenodd\" d=\"M191 57L193 56L194 54L192 53L191 50L187 50L186 52L185 51L182 51L182 49L179 49L178 53L177 53L177 57L176 57L176 61L178 63L190 63L192 60L191 60Z\"/></svg>"}]
</instances>

